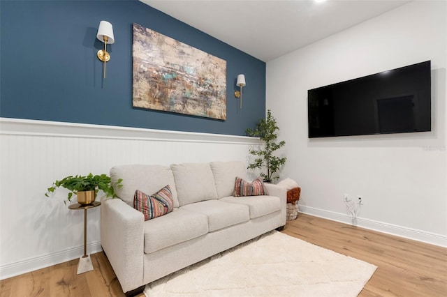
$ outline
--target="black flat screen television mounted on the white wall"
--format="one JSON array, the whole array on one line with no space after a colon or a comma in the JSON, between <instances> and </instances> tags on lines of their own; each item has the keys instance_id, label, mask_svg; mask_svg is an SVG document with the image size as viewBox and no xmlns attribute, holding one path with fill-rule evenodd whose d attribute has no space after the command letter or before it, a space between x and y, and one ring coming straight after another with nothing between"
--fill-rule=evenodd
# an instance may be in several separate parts
<instances>
[{"instance_id":1,"label":"black flat screen television mounted on the white wall","mask_svg":"<svg viewBox=\"0 0 447 297\"><path fill-rule=\"evenodd\" d=\"M307 91L309 138L431 130L430 61Z\"/></svg>"}]
</instances>

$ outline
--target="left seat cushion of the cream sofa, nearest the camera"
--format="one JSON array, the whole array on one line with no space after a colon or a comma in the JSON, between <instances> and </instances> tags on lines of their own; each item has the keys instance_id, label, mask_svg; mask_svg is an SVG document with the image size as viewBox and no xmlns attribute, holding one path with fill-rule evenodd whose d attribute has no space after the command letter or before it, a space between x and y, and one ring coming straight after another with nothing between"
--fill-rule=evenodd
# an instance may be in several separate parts
<instances>
[{"instance_id":1,"label":"left seat cushion of the cream sofa, nearest the camera","mask_svg":"<svg viewBox=\"0 0 447 297\"><path fill-rule=\"evenodd\" d=\"M145 253L189 241L208 233L206 215L179 208L162 217L145 222Z\"/></svg>"}]
</instances>

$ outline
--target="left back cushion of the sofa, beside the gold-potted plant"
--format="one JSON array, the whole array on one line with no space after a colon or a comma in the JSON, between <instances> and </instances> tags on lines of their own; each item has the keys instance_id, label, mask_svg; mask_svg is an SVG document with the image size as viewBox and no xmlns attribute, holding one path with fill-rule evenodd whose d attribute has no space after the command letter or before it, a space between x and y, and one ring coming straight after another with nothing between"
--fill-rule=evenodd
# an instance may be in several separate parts
<instances>
[{"instance_id":1,"label":"left back cushion of the sofa, beside the gold-potted plant","mask_svg":"<svg viewBox=\"0 0 447 297\"><path fill-rule=\"evenodd\" d=\"M179 207L177 190L175 188L173 172L168 166L162 165L120 165L110 169L112 182L122 178L122 188L116 188L119 198L133 206L135 190L140 190L149 195L169 185L173 195L174 207Z\"/></svg>"}]
</instances>

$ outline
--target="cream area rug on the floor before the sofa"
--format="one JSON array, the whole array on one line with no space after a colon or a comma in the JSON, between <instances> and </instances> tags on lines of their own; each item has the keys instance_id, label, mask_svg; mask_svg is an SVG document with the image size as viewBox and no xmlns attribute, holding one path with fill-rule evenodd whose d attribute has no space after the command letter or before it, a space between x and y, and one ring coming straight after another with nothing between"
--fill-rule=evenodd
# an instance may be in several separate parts
<instances>
[{"instance_id":1,"label":"cream area rug on the floor before the sofa","mask_svg":"<svg viewBox=\"0 0 447 297\"><path fill-rule=\"evenodd\" d=\"M376 266L277 231L156 280L147 297L357 296Z\"/></svg>"}]
</instances>

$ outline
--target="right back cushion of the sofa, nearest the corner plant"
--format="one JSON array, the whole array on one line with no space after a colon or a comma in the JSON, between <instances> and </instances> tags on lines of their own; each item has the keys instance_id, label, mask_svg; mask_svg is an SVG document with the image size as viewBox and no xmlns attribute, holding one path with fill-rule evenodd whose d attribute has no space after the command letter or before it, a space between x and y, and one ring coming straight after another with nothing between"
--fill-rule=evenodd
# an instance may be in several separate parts
<instances>
[{"instance_id":1,"label":"right back cushion of the sofa, nearest the corner plant","mask_svg":"<svg viewBox=\"0 0 447 297\"><path fill-rule=\"evenodd\" d=\"M210 166L219 198L233 195L236 176L247 178L246 166L240 161L211 162Z\"/></svg>"}]
</instances>

